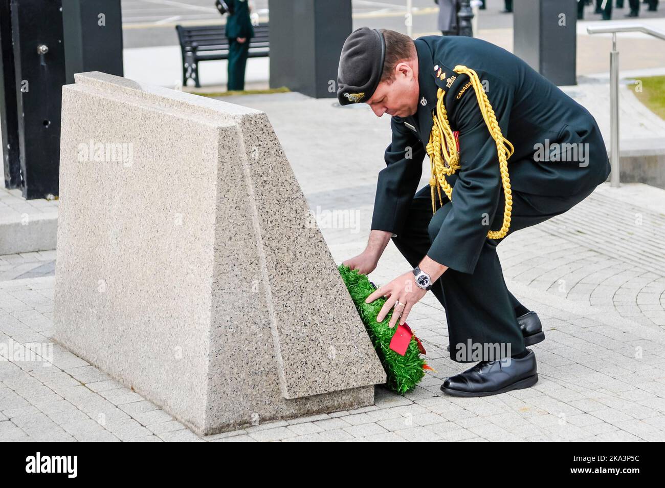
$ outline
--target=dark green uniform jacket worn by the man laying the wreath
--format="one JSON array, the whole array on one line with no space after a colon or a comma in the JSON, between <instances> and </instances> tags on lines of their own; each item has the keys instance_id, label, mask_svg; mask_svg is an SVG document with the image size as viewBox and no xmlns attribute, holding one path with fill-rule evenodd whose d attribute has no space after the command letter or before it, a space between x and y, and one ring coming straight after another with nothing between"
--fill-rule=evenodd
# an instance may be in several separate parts
<instances>
[{"instance_id":1,"label":"dark green uniform jacket worn by the man laying the wreath","mask_svg":"<svg viewBox=\"0 0 665 488\"><path fill-rule=\"evenodd\" d=\"M425 36L415 43L420 103L415 115L390 121L392 142L386 148L387 166L378 176L371 228L402 232L422 175L440 87L446 91L450 126L459 131L461 168L447 178L453 186L452 210L427 255L449 268L472 273L487 231L501 227L503 189L496 144L483 121L475 91L469 77L458 75L454 67L464 65L477 73L503 137L515 147L508 160L513 192L580 194L604 182L610 164L600 129L589 111L515 55L471 37ZM446 75L443 80L437 77L440 69ZM577 153L575 160L557 161L552 148L561 144L575 144L584 152ZM563 147L570 151L568 156L575 156L573 145ZM562 159L561 154L558 158ZM485 215L491 226L483 219Z\"/></svg>"}]
</instances>

